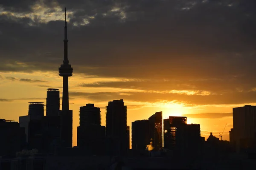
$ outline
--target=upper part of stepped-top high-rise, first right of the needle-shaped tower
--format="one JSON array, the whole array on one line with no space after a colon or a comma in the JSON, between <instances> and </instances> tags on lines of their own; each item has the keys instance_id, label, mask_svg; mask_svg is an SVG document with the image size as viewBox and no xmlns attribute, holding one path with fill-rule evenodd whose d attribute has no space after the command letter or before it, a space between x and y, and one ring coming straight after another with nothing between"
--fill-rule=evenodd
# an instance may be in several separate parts
<instances>
[{"instance_id":1,"label":"upper part of stepped-top high-rise, first right of the needle-shaped tower","mask_svg":"<svg viewBox=\"0 0 256 170\"><path fill-rule=\"evenodd\" d=\"M81 106L79 111L79 125L101 125L100 109L94 107L94 104Z\"/></svg>"}]
</instances>

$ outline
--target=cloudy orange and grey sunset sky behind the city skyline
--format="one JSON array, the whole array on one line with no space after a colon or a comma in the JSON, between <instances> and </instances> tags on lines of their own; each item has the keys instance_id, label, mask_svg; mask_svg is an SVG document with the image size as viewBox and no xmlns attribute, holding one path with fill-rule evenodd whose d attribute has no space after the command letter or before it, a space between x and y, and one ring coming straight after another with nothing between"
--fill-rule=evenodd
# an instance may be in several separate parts
<instances>
[{"instance_id":1,"label":"cloudy orange and grey sunset sky behind the city skyline","mask_svg":"<svg viewBox=\"0 0 256 170\"><path fill-rule=\"evenodd\" d=\"M229 140L232 108L256 105L256 2L247 0L2 0L0 119L60 88L67 7L70 109L124 99L128 125L157 111L187 116Z\"/></svg>"}]
</instances>

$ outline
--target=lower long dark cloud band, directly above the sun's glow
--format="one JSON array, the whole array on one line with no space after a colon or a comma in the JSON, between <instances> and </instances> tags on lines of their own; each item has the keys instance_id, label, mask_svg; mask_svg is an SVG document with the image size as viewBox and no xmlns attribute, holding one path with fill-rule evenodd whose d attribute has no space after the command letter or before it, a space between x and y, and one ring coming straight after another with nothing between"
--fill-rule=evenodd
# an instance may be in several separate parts
<instances>
[{"instance_id":1,"label":"lower long dark cloud band, directly above the sun's glow","mask_svg":"<svg viewBox=\"0 0 256 170\"><path fill-rule=\"evenodd\" d=\"M234 94L222 95L186 95L186 94L161 94L154 92L98 92L98 93L84 93L84 92L70 92L70 96L76 98L84 98L93 100L95 102L108 102L113 99L124 99L135 102L177 102L184 103L187 107L197 105L232 105L246 103L256 103L256 92L243 93L238 92Z\"/></svg>"}]
</instances>

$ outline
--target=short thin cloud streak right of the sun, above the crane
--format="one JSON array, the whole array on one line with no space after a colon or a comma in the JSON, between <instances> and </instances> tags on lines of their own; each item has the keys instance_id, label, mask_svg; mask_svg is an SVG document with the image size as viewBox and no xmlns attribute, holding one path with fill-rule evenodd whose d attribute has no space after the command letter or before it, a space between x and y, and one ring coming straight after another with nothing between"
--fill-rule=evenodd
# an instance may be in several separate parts
<instances>
[{"instance_id":1,"label":"short thin cloud streak right of the sun, above the crane","mask_svg":"<svg viewBox=\"0 0 256 170\"><path fill-rule=\"evenodd\" d=\"M233 113L198 113L198 114L186 114L183 116L186 116L189 118L200 118L200 119L221 119L224 117L233 116Z\"/></svg>"}]
</instances>

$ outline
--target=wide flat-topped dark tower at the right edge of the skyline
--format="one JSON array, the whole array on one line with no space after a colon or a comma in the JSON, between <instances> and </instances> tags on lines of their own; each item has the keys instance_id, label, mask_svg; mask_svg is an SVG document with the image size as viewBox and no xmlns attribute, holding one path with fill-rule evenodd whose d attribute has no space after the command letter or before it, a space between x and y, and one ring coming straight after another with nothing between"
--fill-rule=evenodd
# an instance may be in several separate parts
<instances>
[{"instance_id":1,"label":"wide flat-topped dark tower at the right edge of the skyline","mask_svg":"<svg viewBox=\"0 0 256 170\"><path fill-rule=\"evenodd\" d=\"M256 148L256 106L233 108L233 134L237 152Z\"/></svg>"}]
</instances>

